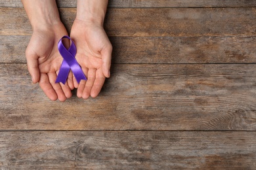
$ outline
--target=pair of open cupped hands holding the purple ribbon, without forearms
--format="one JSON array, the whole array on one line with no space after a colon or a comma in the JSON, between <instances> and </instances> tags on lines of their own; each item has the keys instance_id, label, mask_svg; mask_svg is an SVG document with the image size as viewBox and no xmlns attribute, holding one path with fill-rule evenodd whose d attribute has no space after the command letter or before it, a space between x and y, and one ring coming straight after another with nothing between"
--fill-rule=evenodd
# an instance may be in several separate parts
<instances>
[{"instance_id":1,"label":"pair of open cupped hands holding the purple ribbon, without forearms","mask_svg":"<svg viewBox=\"0 0 256 170\"><path fill-rule=\"evenodd\" d=\"M77 88L77 97L87 99L96 97L106 78L110 77L112 44L102 25L75 19L70 37L75 42L77 54L75 59L87 80L78 84L70 71L65 84L55 83L60 65L63 61L58 52L58 41L68 35L62 22L51 27L37 28L26 50L28 71L33 83L39 86L49 99L65 101L72 96L71 90Z\"/></svg>"}]
</instances>

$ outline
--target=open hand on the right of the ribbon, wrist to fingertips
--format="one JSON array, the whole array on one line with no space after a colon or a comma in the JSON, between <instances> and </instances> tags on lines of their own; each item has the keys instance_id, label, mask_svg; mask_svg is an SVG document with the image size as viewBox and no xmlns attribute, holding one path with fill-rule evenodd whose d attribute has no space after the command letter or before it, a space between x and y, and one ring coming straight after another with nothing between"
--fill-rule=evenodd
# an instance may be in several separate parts
<instances>
[{"instance_id":1,"label":"open hand on the right of the ribbon, wrist to fingertips","mask_svg":"<svg viewBox=\"0 0 256 170\"><path fill-rule=\"evenodd\" d=\"M96 97L100 92L110 67L112 46L100 25L88 24L75 20L71 30L71 37L77 46L75 58L87 76L87 82L77 84L77 96Z\"/></svg>"}]
</instances>

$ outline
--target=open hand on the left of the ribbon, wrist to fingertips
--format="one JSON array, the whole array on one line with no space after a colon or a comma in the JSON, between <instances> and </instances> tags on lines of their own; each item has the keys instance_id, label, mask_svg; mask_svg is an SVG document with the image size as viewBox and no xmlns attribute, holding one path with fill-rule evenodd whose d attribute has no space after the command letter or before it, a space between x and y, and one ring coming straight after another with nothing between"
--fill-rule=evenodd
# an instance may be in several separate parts
<instances>
[{"instance_id":1,"label":"open hand on the left of the ribbon, wrist to fingertips","mask_svg":"<svg viewBox=\"0 0 256 170\"><path fill-rule=\"evenodd\" d=\"M51 26L35 28L26 49L28 71L33 83L39 86L49 99L65 101L72 96L74 89L73 75L70 72L65 84L55 83L56 76L63 61L58 52L58 41L68 35L64 25L58 22Z\"/></svg>"}]
</instances>

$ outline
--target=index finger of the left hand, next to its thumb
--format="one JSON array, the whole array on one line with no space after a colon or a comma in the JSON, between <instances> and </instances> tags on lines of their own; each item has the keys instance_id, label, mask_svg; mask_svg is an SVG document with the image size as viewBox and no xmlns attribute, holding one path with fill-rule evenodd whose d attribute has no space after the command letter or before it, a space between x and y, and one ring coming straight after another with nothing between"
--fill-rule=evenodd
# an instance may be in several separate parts
<instances>
[{"instance_id":1,"label":"index finger of the left hand, next to its thumb","mask_svg":"<svg viewBox=\"0 0 256 170\"><path fill-rule=\"evenodd\" d=\"M47 74L41 73L40 80L39 80L39 86L41 87L43 92L45 92L47 97L49 97L49 99L51 99L52 101L56 101L56 99L58 99L58 95L56 94L55 90L53 89L53 86L51 86Z\"/></svg>"}]
</instances>

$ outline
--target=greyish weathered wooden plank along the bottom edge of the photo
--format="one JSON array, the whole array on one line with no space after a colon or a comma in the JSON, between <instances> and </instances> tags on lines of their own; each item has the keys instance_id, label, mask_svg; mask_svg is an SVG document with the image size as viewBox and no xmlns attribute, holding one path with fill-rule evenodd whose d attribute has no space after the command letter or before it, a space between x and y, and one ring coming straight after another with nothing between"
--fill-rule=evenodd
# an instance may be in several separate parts
<instances>
[{"instance_id":1,"label":"greyish weathered wooden plank along the bottom edge of the photo","mask_svg":"<svg viewBox=\"0 0 256 170\"><path fill-rule=\"evenodd\" d=\"M5 131L1 169L255 169L256 132Z\"/></svg>"}]
</instances>

